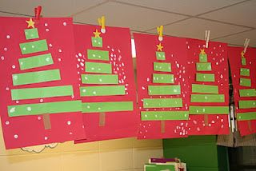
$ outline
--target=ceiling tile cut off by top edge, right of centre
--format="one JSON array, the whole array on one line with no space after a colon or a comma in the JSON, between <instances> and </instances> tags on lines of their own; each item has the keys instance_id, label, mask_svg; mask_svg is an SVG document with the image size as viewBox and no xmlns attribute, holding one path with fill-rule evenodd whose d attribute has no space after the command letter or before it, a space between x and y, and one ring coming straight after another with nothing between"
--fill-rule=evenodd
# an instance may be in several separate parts
<instances>
[{"instance_id":1,"label":"ceiling tile cut off by top edge, right of centre","mask_svg":"<svg viewBox=\"0 0 256 171\"><path fill-rule=\"evenodd\" d=\"M118 2L127 2L181 14L197 15L223 6L230 6L236 2L242 2L242 0L118 0Z\"/></svg>"}]
</instances>

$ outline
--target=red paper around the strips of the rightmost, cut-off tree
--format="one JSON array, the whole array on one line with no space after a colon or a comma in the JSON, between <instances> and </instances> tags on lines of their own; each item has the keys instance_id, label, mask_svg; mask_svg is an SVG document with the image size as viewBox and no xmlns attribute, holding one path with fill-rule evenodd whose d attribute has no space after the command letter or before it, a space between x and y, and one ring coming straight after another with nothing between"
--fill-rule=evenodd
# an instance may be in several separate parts
<instances>
[{"instance_id":1,"label":"red paper around the strips of the rightmost, cut-off tree","mask_svg":"<svg viewBox=\"0 0 256 171\"><path fill-rule=\"evenodd\" d=\"M246 58L246 66L242 66L241 63L241 52L243 47L228 47L228 58L230 62L230 70L231 70L231 78L234 92L234 105L235 105L235 113L246 113L246 112L256 112L256 109L239 109L238 101L239 100L256 100L256 97L240 97L239 89L256 89L256 49L255 48L247 48L246 54L244 55ZM248 68L250 69L250 77L241 77L240 76L240 68ZM250 78L251 87L244 87L239 85L240 78ZM249 135L252 133L256 133L256 120L250 120L251 129L249 128L248 121L237 121L238 129L241 136Z\"/></svg>"}]
</instances>

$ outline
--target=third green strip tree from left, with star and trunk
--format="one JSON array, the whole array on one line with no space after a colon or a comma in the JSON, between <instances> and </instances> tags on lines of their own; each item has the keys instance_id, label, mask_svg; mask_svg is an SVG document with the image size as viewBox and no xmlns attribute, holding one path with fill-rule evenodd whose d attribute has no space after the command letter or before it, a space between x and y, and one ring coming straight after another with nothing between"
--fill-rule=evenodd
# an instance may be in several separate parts
<instances>
[{"instance_id":1,"label":"third green strip tree from left, with star and trunk","mask_svg":"<svg viewBox=\"0 0 256 171\"><path fill-rule=\"evenodd\" d=\"M157 109L154 111L142 111L142 121L161 121L161 132L165 133L165 122L170 120L187 120L188 111L169 110L162 111L165 108L182 107L182 97L175 97L181 94L181 85L175 82L170 62L166 62L166 54L162 51L161 43L157 45L156 62L154 62L154 73L152 74L153 83L160 85L148 85L148 94L152 98L143 98L144 109ZM174 64L173 64L174 65ZM157 72L157 73L156 73ZM155 97L158 96L158 97ZM159 96L169 96L161 98ZM159 108L161 110L159 110Z\"/></svg>"}]
</instances>

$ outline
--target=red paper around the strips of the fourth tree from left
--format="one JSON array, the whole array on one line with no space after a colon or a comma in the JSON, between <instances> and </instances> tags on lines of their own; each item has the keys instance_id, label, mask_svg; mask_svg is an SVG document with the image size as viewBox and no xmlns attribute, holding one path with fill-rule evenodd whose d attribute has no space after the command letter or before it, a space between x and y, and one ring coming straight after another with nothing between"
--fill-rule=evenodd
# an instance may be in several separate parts
<instances>
[{"instance_id":1,"label":"red paper around the strips of the fourth tree from left","mask_svg":"<svg viewBox=\"0 0 256 171\"><path fill-rule=\"evenodd\" d=\"M190 85L202 82L196 82L196 62L199 62L200 50L205 49L208 62L211 62L211 71L198 73L214 74L215 82L205 82L205 85L218 85L218 94L225 95L225 102L199 103L190 102L190 105L199 106L229 106L229 68L227 62L227 45L221 42L209 42L208 48L205 48L205 41L197 39L187 39L186 48L188 53L188 70L187 75ZM190 87L191 89L191 87ZM229 117L223 114L208 114L208 124L205 125L204 115L190 114L189 135L211 135L211 134L228 134Z\"/></svg>"}]
</instances>

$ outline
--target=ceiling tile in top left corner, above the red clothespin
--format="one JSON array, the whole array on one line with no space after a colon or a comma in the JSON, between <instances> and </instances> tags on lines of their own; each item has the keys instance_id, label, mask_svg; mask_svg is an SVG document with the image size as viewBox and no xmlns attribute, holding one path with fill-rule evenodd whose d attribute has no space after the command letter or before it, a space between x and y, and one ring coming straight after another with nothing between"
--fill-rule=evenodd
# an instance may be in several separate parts
<instances>
[{"instance_id":1,"label":"ceiling tile in top left corner, above the red clothespin","mask_svg":"<svg viewBox=\"0 0 256 171\"><path fill-rule=\"evenodd\" d=\"M42 15L44 17L68 17L100 2L103 2L103 0L1 0L0 10L34 15L34 7L42 6Z\"/></svg>"}]
</instances>

